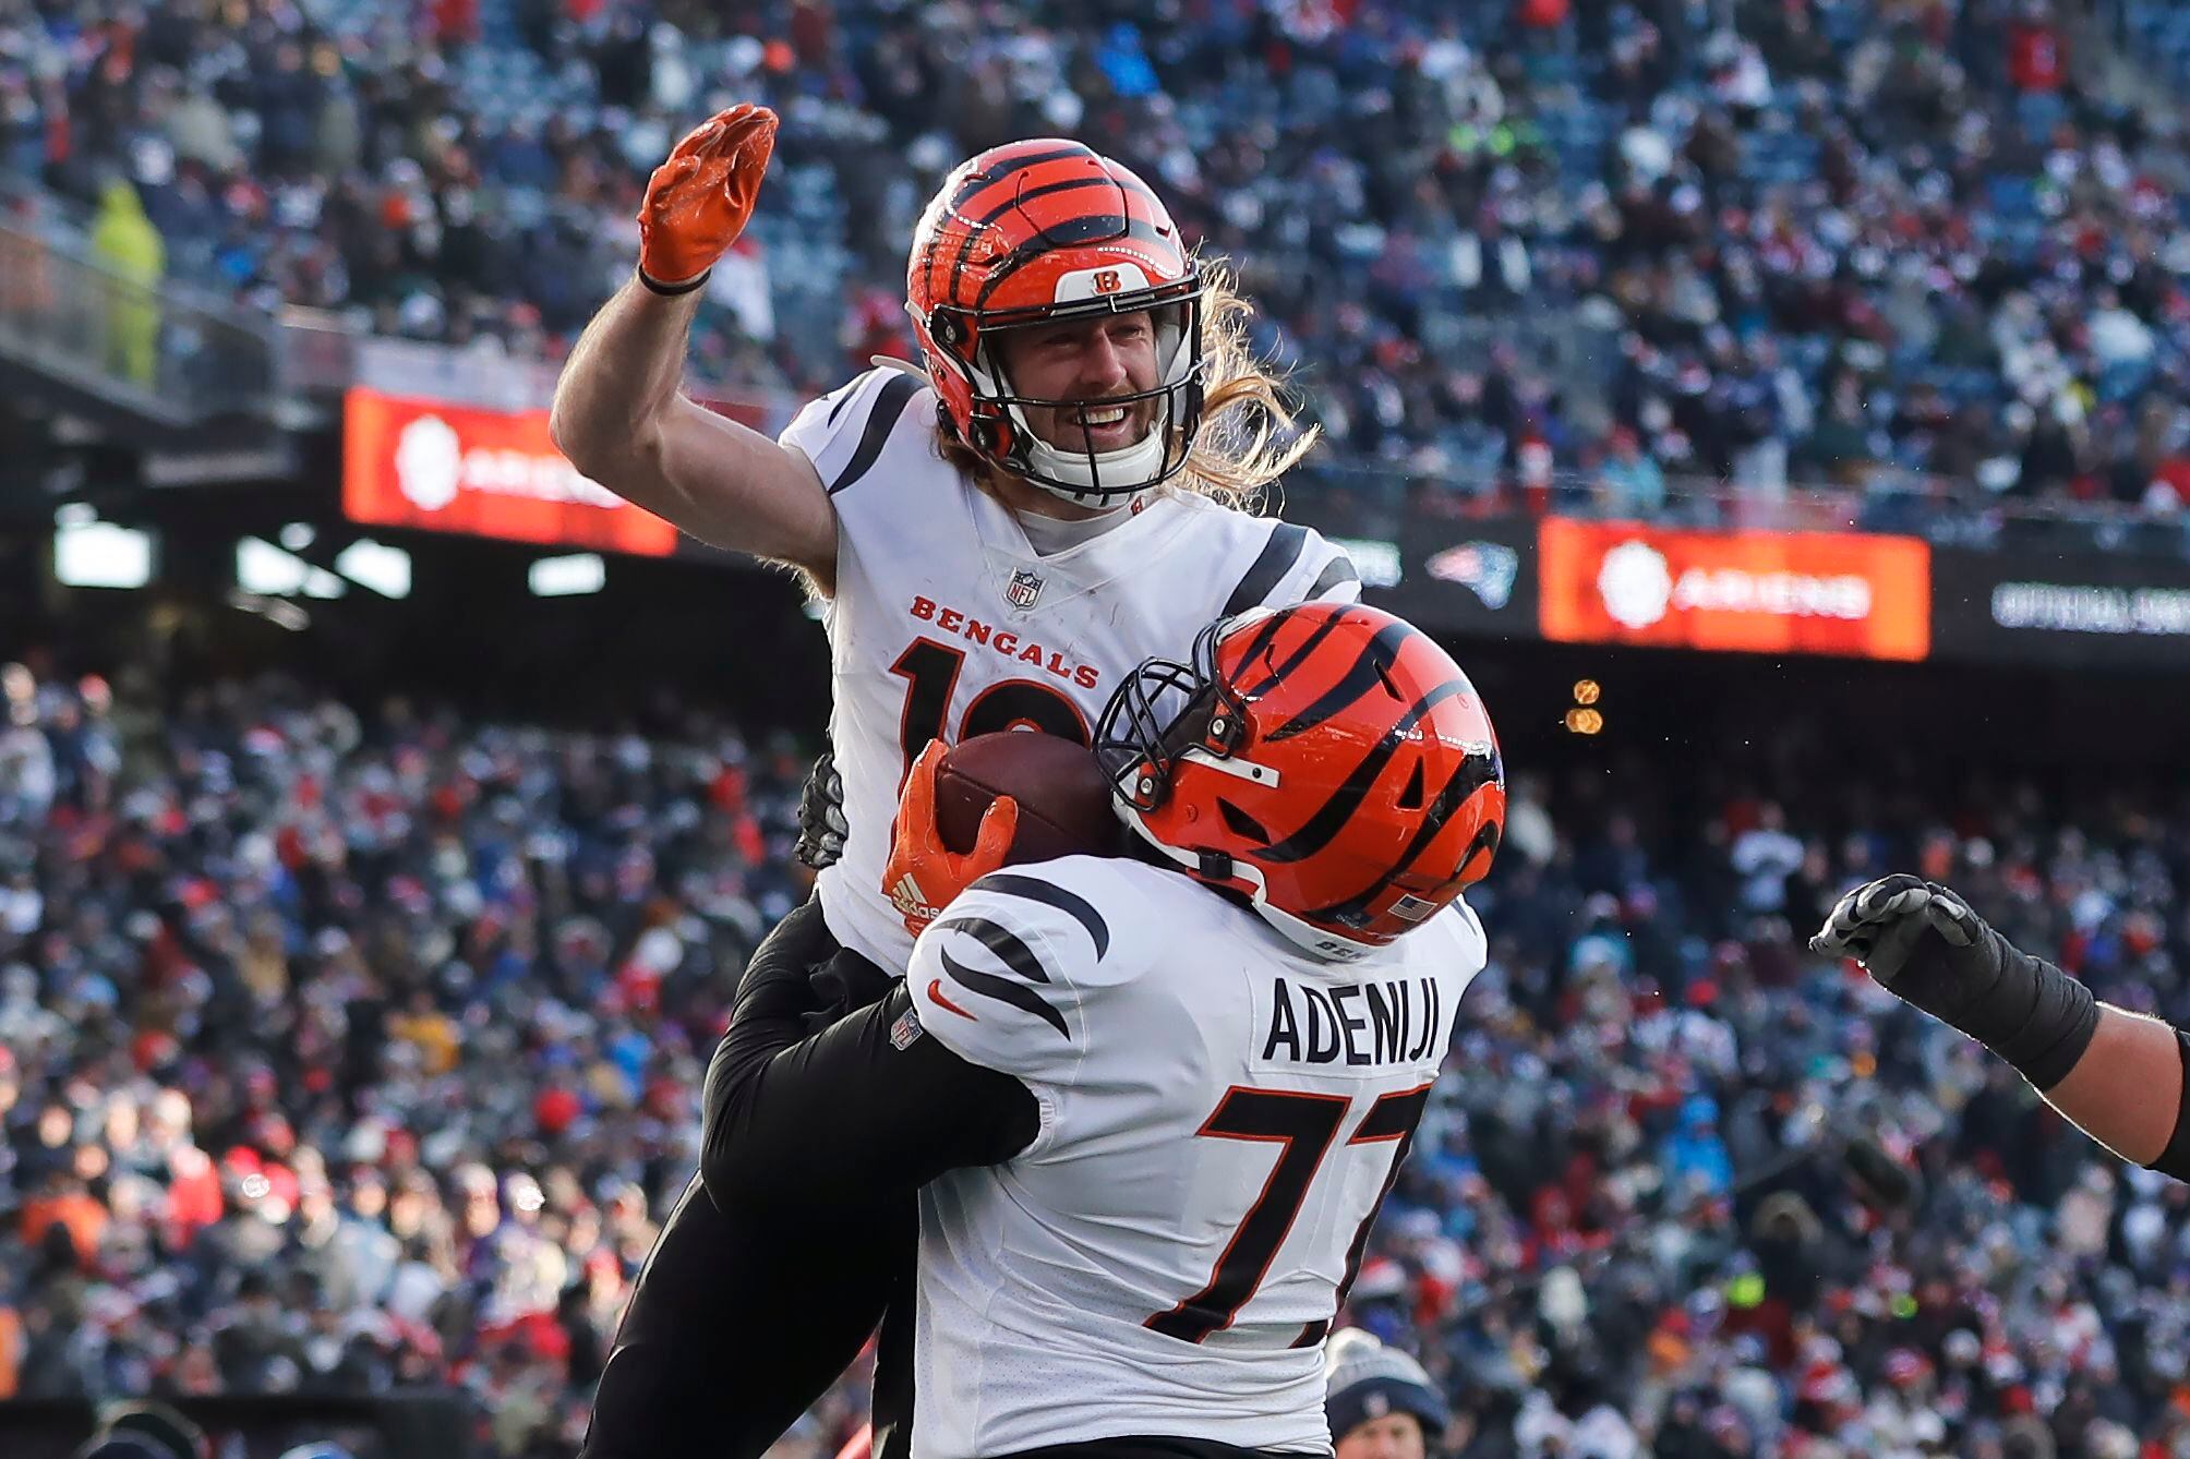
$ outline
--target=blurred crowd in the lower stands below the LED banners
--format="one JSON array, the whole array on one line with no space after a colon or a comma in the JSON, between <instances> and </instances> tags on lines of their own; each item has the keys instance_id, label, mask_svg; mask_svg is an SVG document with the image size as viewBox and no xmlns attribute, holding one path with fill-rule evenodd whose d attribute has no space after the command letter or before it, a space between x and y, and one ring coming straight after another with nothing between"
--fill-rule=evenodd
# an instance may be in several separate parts
<instances>
[{"instance_id":1,"label":"blurred crowd in the lower stands below the LED banners","mask_svg":"<svg viewBox=\"0 0 2190 1459\"><path fill-rule=\"evenodd\" d=\"M447 1380L482 1455L567 1452L729 970L799 896L788 747L0 688L0 1395ZM1467 1459L2190 1452L2190 1187L1800 944L1921 865L2186 1019L2179 793L2063 819L1772 756L1513 786L1353 1319Z\"/></svg>"}]
</instances>

